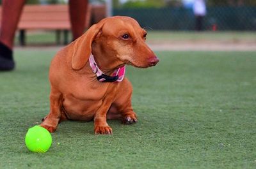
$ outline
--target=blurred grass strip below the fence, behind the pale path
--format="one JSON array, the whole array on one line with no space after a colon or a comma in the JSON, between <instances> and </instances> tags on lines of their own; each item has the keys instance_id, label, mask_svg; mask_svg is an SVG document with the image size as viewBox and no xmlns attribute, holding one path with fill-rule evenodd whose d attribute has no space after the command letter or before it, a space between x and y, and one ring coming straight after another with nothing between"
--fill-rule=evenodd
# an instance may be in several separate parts
<instances>
[{"instance_id":1,"label":"blurred grass strip below the fence, behind the pale path","mask_svg":"<svg viewBox=\"0 0 256 169\"><path fill-rule=\"evenodd\" d=\"M18 34L17 34L18 35ZM71 34L69 33L69 40L71 40ZM205 31L202 33L196 33L194 31L150 31L148 30L147 36L148 42L180 42L180 41L224 41L227 43L256 43L255 32L250 31ZM63 34L61 34L63 39ZM18 44L18 36L16 38ZM63 41L63 40L61 40ZM43 32L31 32L28 31L26 36L26 42L28 45L51 45L56 43L56 34L54 31Z\"/></svg>"}]
</instances>

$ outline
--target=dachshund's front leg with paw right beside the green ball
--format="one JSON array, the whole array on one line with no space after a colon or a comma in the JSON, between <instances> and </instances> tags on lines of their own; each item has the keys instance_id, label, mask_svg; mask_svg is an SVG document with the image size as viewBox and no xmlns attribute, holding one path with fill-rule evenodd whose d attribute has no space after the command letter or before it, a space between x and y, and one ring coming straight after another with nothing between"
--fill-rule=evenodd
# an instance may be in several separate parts
<instances>
[{"instance_id":1,"label":"dachshund's front leg with paw right beside the green ball","mask_svg":"<svg viewBox=\"0 0 256 169\"><path fill-rule=\"evenodd\" d=\"M62 101L63 97L61 92L52 88L50 94L50 112L41 123L41 126L51 133L56 130L58 123L60 122L62 114Z\"/></svg>"}]
</instances>

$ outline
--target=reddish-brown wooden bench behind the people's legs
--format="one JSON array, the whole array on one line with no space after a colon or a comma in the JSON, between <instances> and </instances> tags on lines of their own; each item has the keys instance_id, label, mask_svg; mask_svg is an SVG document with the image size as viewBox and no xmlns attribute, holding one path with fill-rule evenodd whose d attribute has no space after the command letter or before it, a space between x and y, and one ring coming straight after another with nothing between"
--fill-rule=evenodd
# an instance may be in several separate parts
<instances>
[{"instance_id":1,"label":"reddish-brown wooden bench behind the people's legs","mask_svg":"<svg viewBox=\"0 0 256 169\"><path fill-rule=\"evenodd\" d=\"M88 5L84 28L90 26L91 5ZM1 18L1 8L0 8ZM18 25L20 45L26 45L26 30L44 29L56 31L56 40L60 44L61 31L64 33L64 44L68 43L70 20L67 4L25 5Z\"/></svg>"}]
</instances>

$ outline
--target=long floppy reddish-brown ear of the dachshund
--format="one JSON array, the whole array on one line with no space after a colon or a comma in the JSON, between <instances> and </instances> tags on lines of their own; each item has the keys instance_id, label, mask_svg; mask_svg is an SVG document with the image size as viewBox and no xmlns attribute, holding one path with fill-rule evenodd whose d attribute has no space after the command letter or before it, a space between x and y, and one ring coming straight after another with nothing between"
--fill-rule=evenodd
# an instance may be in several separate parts
<instances>
[{"instance_id":1,"label":"long floppy reddish-brown ear of the dachshund","mask_svg":"<svg viewBox=\"0 0 256 169\"><path fill-rule=\"evenodd\" d=\"M81 70L88 61L92 53L92 42L100 33L103 24L95 24L86 31L80 38L74 41L74 51L72 55L72 69Z\"/></svg>"}]
</instances>

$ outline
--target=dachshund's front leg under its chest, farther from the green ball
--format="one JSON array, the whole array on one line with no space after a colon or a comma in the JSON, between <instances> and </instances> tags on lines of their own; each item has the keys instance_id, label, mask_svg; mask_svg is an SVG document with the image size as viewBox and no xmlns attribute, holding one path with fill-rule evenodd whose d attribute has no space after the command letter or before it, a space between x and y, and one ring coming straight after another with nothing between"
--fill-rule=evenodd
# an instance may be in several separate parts
<instances>
[{"instance_id":1,"label":"dachshund's front leg under its chest, farther from the green ball","mask_svg":"<svg viewBox=\"0 0 256 169\"><path fill-rule=\"evenodd\" d=\"M102 135L111 135L112 129L108 126L107 123L107 112L111 103L113 102L113 98L105 98L103 100L102 105L97 110L94 116L94 133L95 134L102 134Z\"/></svg>"}]
</instances>

